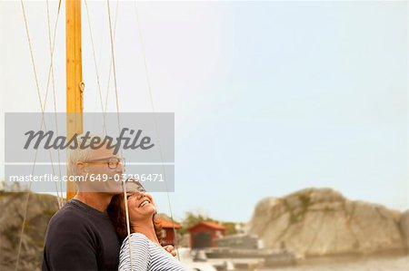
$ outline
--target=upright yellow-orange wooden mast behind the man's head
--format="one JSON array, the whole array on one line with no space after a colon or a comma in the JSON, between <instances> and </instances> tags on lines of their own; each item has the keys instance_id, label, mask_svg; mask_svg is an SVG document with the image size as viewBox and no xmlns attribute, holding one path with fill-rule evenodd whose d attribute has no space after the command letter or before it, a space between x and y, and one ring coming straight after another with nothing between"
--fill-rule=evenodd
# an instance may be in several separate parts
<instances>
[{"instance_id":1,"label":"upright yellow-orange wooden mast behind the man's head","mask_svg":"<svg viewBox=\"0 0 409 271\"><path fill-rule=\"evenodd\" d=\"M81 0L65 1L66 131L67 139L83 132L83 67L81 56ZM68 175L68 172L67 172ZM66 182L66 199L75 196L75 183Z\"/></svg>"}]
</instances>

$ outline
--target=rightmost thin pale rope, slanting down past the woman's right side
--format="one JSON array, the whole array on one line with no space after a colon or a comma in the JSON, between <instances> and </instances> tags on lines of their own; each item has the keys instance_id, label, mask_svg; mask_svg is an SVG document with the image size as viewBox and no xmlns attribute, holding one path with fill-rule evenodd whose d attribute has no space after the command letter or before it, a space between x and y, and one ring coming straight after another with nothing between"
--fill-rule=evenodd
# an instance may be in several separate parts
<instances>
[{"instance_id":1,"label":"rightmost thin pale rope, slanting down past the woman's right side","mask_svg":"<svg viewBox=\"0 0 409 271\"><path fill-rule=\"evenodd\" d=\"M156 137L158 139L159 152L160 152L161 160L162 160L162 169L164 170L165 180L167 180L165 165L164 165L164 154L163 154L163 151L162 151L161 142L159 140L158 131L157 131L157 121L156 121L156 116L155 116L155 104L154 104L154 98L153 98L153 95L152 95L151 81L150 81L149 73L148 73L144 39L142 37L142 29L141 29L141 24L139 22L139 15L138 15L138 9L137 9L137 6L136 6L136 2L134 2L134 4L135 4L136 23L138 25L138 32L139 32L139 40L140 40L140 43L141 43L142 55L144 57L144 65L145 65L145 73L146 73L146 84L147 84L147 87L148 87L148 92L149 92L149 98L150 98L150 102L151 102L151 106L152 106L152 111L154 112L155 133L156 133ZM176 229L175 229L175 219L174 219L174 214L173 214L173 211L172 211L172 205L171 205L171 200L170 200L170 196L169 196L169 189L167 187L166 181L165 181L165 189L166 189L167 203L168 203L168 206L169 206L169 212L170 212L171 220L172 220L172 227L174 229L175 248L176 248L176 252L177 252L176 254L177 254L177 258L180 261L179 250L178 250L178 247L177 247L178 240L177 240L177 234L176 234Z\"/></svg>"}]
</instances>

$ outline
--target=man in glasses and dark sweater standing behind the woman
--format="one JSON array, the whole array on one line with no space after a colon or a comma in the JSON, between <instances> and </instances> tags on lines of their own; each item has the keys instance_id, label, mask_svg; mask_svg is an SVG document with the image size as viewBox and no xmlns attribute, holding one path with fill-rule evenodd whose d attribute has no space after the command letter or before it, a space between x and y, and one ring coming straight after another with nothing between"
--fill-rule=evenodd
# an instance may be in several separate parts
<instances>
[{"instance_id":1,"label":"man in glasses and dark sweater standing behind the woman","mask_svg":"<svg viewBox=\"0 0 409 271\"><path fill-rule=\"evenodd\" d=\"M122 192L115 175L123 173L124 160L105 147L70 150L69 157L78 192L48 224L42 269L117 270L120 243L106 208ZM172 246L165 249L175 256Z\"/></svg>"}]
</instances>

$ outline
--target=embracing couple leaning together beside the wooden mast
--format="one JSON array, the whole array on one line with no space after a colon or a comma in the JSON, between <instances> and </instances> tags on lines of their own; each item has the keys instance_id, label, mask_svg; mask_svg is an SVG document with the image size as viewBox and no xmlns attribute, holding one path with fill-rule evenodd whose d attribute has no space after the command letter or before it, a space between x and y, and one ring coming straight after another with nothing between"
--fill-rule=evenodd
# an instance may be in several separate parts
<instances>
[{"instance_id":1,"label":"embracing couple leaning together beside the wooden mast","mask_svg":"<svg viewBox=\"0 0 409 271\"><path fill-rule=\"evenodd\" d=\"M123 160L112 149L69 151L69 170L75 177L115 179L123 173ZM126 183L130 238L122 183L76 184L75 197L48 224L43 270L186 270L173 246L160 245L154 200L138 182Z\"/></svg>"}]
</instances>

